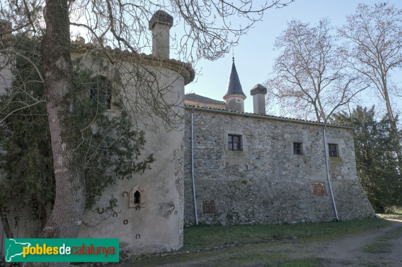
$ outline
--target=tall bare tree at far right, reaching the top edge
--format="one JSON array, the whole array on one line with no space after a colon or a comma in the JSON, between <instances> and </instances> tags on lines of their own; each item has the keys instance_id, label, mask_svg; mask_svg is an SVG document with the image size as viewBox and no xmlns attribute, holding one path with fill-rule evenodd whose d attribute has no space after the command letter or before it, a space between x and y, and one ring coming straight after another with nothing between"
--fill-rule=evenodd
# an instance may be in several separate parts
<instances>
[{"instance_id":1,"label":"tall bare tree at far right, reaching the top edge","mask_svg":"<svg viewBox=\"0 0 402 267\"><path fill-rule=\"evenodd\" d=\"M359 4L339 32L349 42L351 67L376 89L396 133L391 97L400 89L392 86L390 74L402 65L402 10L387 3Z\"/></svg>"}]
</instances>

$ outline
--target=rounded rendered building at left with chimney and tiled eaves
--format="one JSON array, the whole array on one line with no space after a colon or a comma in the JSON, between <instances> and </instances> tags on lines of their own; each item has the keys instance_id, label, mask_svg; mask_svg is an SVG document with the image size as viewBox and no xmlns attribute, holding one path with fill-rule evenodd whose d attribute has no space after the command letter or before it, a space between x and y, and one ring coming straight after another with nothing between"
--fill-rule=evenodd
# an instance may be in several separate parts
<instances>
[{"instance_id":1,"label":"rounded rendered building at left with chimney and tiled eaves","mask_svg":"<svg viewBox=\"0 0 402 267\"><path fill-rule=\"evenodd\" d=\"M184 86L193 81L195 72L190 64L169 59L169 30L172 25L173 18L170 15L157 11L149 21L153 35L152 55L110 49L108 56L120 67L121 84L126 85L124 103L141 103L141 99L135 99L139 95L136 90L141 88L131 86L137 84L129 73L151 72L160 85L155 90L163 94L163 100L173 106L174 114L182 118ZM7 44L12 46L14 37L8 38ZM92 44L78 38L71 43L71 58L80 58L82 64L93 71L96 77L112 81L114 66L99 65L93 53L90 53L92 49ZM6 62L7 52L0 50L0 63ZM0 64L1 67L3 65ZM142 67L139 69L137 66ZM127 73L122 73L122 70ZM6 93L5 87L11 85L11 74L12 66L2 68L0 75L4 80L0 80L0 94ZM91 94L87 92L88 98ZM105 95L108 114L119 116L119 102L115 101L113 94L105 92ZM153 154L156 161L152 163L152 169L146 170L144 174L134 174L130 180L118 179L116 184L108 187L91 210L85 210L79 238L119 238L120 249L131 255L177 250L183 245L184 125L181 123L176 130L169 131L160 117L151 116L137 113L133 116L133 123L145 132L146 144L142 155ZM111 200L117 206L108 209ZM37 237L38 225L34 226L35 231L27 230L27 223L32 221L27 214L21 214L18 218L9 214L8 221L10 225L16 225L11 229L15 238Z\"/></svg>"}]
</instances>

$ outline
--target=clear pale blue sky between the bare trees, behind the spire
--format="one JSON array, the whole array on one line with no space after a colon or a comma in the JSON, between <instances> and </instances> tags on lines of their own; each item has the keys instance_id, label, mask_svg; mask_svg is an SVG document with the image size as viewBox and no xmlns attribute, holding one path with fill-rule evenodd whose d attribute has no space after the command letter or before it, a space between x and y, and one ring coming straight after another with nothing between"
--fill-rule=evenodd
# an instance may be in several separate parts
<instances>
[{"instance_id":1,"label":"clear pale blue sky between the bare trees, behind the spire","mask_svg":"<svg viewBox=\"0 0 402 267\"><path fill-rule=\"evenodd\" d=\"M282 9L267 10L264 13L263 21L257 22L246 36L240 38L239 45L234 48L236 69L243 92L247 96L244 101L245 112L253 112L251 88L256 84L264 84L269 73L272 72L274 59L278 55L278 52L273 51L273 43L275 38L285 30L286 21L294 18L304 23L315 24L320 19L328 17L333 26L341 27L346 23L346 16L353 14L359 3L374 5L379 1L296 0ZM402 9L402 1L393 0L389 1L389 4ZM174 31L174 29L172 30ZM170 57L172 56L170 55ZM199 74L194 82L185 87L185 93L195 93L223 101L231 67L232 53L216 61L200 60L196 64L196 71ZM394 73L394 76L401 77L401 71ZM377 102L374 92L367 92L364 98L367 104L362 104L366 106L371 106Z\"/></svg>"}]
</instances>

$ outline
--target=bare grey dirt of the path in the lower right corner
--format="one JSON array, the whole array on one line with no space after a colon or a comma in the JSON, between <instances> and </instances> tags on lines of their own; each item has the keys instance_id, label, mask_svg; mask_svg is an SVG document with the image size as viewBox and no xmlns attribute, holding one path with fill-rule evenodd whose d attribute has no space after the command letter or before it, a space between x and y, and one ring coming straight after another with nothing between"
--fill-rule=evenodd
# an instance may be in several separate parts
<instances>
[{"instance_id":1,"label":"bare grey dirt of the path in the lower right corner","mask_svg":"<svg viewBox=\"0 0 402 267\"><path fill-rule=\"evenodd\" d=\"M402 221L390 226L306 244L285 244L295 258L318 257L321 266L402 266Z\"/></svg>"}]
</instances>

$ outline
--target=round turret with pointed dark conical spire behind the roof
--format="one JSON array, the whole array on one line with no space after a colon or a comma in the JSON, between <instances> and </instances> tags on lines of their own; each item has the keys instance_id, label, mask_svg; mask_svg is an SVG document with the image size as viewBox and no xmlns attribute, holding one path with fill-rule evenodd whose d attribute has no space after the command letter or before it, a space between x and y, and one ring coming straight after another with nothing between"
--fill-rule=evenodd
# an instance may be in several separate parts
<instances>
[{"instance_id":1,"label":"round turret with pointed dark conical spire behind the roof","mask_svg":"<svg viewBox=\"0 0 402 267\"><path fill-rule=\"evenodd\" d=\"M244 100L246 99L246 95L243 93L239 75L236 71L235 58L233 57L232 60L232 71L229 76L228 89L223 96L225 109L244 112Z\"/></svg>"}]
</instances>

